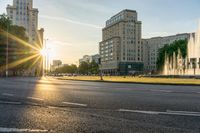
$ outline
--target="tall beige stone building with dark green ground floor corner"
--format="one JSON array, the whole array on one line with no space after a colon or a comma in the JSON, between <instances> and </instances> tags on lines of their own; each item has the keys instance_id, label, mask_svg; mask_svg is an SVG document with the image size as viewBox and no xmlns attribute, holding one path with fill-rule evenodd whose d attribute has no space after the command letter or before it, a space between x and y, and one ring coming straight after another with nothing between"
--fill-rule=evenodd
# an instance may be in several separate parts
<instances>
[{"instance_id":1,"label":"tall beige stone building with dark green ground floor corner","mask_svg":"<svg viewBox=\"0 0 200 133\"><path fill-rule=\"evenodd\" d=\"M100 69L104 74L143 71L141 25L134 10L123 10L106 21L99 44Z\"/></svg>"}]
</instances>

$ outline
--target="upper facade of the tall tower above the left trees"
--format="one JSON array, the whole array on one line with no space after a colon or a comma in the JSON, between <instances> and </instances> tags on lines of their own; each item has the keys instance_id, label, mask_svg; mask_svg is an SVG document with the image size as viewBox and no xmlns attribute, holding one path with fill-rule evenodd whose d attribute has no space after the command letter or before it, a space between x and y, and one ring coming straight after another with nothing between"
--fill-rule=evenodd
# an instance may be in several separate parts
<instances>
[{"instance_id":1,"label":"upper facade of the tall tower above the left trees","mask_svg":"<svg viewBox=\"0 0 200 133\"><path fill-rule=\"evenodd\" d=\"M31 44L36 43L38 9L33 8L33 0L13 0L13 5L7 6L7 15L13 25L23 26L26 29Z\"/></svg>"}]
</instances>

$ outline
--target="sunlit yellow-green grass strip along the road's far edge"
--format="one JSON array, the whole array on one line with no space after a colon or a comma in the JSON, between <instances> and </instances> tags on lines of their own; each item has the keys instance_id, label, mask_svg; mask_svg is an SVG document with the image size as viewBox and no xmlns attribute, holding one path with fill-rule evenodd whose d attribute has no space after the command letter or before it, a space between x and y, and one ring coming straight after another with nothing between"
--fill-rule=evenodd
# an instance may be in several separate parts
<instances>
[{"instance_id":1,"label":"sunlit yellow-green grass strip along the road's far edge","mask_svg":"<svg viewBox=\"0 0 200 133\"><path fill-rule=\"evenodd\" d=\"M181 78L104 76L103 80L101 80L99 76L71 76L71 77L65 76L65 77L57 77L57 79L73 80L73 81L107 82L107 83L200 86L200 79L181 79Z\"/></svg>"}]
</instances>

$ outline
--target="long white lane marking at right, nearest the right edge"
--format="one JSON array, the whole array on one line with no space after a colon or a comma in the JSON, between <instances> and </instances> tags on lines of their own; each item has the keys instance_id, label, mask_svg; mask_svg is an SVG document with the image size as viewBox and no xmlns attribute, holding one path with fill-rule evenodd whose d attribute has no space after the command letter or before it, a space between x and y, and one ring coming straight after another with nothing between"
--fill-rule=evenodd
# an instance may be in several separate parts
<instances>
[{"instance_id":1,"label":"long white lane marking at right, nearest the right edge","mask_svg":"<svg viewBox=\"0 0 200 133\"><path fill-rule=\"evenodd\" d=\"M128 109L119 109L118 111L119 112L140 113L140 114L150 114L150 115L178 115L178 116L200 117L200 112L189 112L189 111L167 110L166 112L159 112L159 111L143 111L143 110L128 110Z\"/></svg>"}]
</instances>

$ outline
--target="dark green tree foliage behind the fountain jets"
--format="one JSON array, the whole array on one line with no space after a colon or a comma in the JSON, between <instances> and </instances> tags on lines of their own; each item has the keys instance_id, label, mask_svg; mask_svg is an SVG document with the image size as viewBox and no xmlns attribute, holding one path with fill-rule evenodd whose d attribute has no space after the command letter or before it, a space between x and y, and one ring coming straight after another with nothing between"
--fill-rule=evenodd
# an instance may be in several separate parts
<instances>
[{"instance_id":1,"label":"dark green tree foliage behind the fountain jets","mask_svg":"<svg viewBox=\"0 0 200 133\"><path fill-rule=\"evenodd\" d=\"M173 57L173 53L176 53L176 56L178 55L178 50L180 49L183 58L187 56L187 40L179 40L175 41L172 44L165 45L163 48L159 49L158 53L158 59L157 59L157 66L158 70L162 71L164 62L165 62L165 56L168 55L169 57Z\"/></svg>"}]
</instances>

